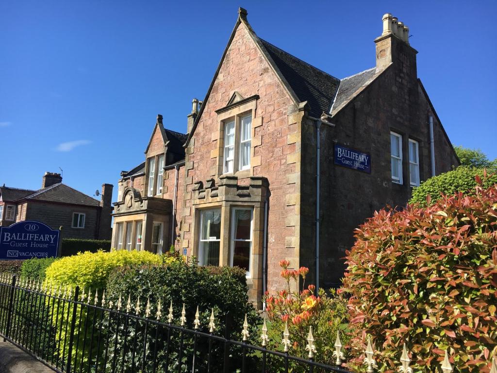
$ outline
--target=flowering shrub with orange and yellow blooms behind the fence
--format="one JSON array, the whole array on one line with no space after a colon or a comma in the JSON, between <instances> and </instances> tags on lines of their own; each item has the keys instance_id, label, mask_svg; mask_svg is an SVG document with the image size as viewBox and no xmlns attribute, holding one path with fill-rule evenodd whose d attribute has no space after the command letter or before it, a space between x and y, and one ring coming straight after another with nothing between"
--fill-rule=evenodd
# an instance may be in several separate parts
<instances>
[{"instance_id":1,"label":"flowering shrub with orange and yellow blooms behind the fence","mask_svg":"<svg viewBox=\"0 0 497 373\"><path fill-rule=\"evenodd\" d=\"M281 349L280 342L287 324L289 339L292 342L290 354L306 359L307 337L309 327L312 327L317 350L316 361L334 365L335 358L332 354L336 333L340 333L343 346L348 341L348 336L344 332L348 317L346 301L334 290L330 290L330 294L327 294L324 289L319 289L318 296L315 296L316 286L310 284L306 287L308 268L301 267L292 271L288 269L290 262L282 260L279 264L283 269L281 277L286 280L287 288L275 295L266 295L265 298L270 321L269 334L273 337L270 347ZM302 282L301 290L291 291L290 281L295 281L297 287L299 282Z\"/></svg>"}]
</instances>

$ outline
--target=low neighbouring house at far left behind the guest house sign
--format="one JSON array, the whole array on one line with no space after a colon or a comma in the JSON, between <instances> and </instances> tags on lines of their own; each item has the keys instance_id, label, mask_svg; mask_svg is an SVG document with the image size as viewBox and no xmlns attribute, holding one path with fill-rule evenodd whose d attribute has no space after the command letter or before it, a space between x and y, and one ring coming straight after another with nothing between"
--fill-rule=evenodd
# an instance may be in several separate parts
<instances>
[{"instance_id":1,"label":"low neighbouring house at far left behind the guest house sign","mask_svg":"<svg viewBox=\"0 0 497 373\"><path fill-rule=\"evenodd\" d=\"M36 220L63 238L110 240L112 185L103 184L101 199L62 184L61 174L46 172L38 190L0 187L0 226Z\"/></svg>"}]
</instances>

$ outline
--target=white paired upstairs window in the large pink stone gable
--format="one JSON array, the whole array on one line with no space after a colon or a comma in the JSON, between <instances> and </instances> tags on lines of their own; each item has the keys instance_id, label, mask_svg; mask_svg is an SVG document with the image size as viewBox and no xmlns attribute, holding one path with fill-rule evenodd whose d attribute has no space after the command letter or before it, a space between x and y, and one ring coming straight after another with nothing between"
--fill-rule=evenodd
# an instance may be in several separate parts
<instances>
[{"instance_id":1,"label":"white paired upstairs window in the large pink stone gable","mask_svg":"<svg viewBox=\"0 0 497 373\"><path fill-rule=\"evenodd\" d=\"M224 122L224 174L250 169L251 130L251 113Z\"/></svg>"}]
</instances>

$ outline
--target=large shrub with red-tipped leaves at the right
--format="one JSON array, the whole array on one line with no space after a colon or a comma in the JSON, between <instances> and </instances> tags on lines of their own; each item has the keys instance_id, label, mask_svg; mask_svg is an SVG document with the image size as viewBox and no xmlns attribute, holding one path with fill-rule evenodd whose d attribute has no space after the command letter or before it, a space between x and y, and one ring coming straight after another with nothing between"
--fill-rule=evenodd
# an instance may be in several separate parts
<instances>
[{"instance_id":1,"label":"large shrub with red-tipped leaves at the right","mask_svg":"<svg viewBox=\"0 0 497 373\"><path fill-rule=\"evenodd\" d=\"M497 346L497 186L432 206L375 213L346 252L352 341L360 371L371 337L381 372L407 344L414 372L489 372Z\"/></svg>"}]
</instances>

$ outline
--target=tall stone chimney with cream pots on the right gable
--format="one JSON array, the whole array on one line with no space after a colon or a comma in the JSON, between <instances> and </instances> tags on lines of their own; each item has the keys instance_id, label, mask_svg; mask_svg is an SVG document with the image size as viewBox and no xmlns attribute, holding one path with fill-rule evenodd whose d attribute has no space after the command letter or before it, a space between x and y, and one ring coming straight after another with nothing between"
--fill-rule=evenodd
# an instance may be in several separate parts
<instances>
[{"instance_id":1,"label":"tall stone chimney with cream pots on the right gable","mask_svg":"<svg viewBox=\"0 0 497 373\"><path fill-rule=\"evenodd\" d=\"M383 70L391 63L404 74L417 79L416 53L409 45L409 27L391 13L382 17L383 32L375 39L376 70Z\"/></svg>"}]
</instances>

